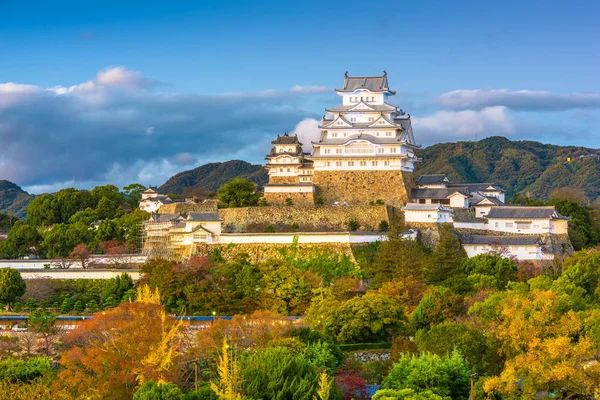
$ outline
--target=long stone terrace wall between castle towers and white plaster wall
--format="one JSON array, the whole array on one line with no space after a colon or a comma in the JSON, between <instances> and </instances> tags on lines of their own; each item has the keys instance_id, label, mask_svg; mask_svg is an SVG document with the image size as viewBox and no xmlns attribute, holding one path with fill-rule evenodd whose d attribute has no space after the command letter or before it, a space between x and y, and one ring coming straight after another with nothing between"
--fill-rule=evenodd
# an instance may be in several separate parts
<instances>
[{"instance_id":1,"label":"long stone terrace wall between castle towers and white plaster wall","mask_svg":"<svg viewBox=\"0 0 600 400\"><path fill-rule=\"evenodd\" d=\"M299 232L344 232L356 220L359 231L377 231L381 221L389 221L386 206L268 206L223 208L223 233L263 232L273 225L277 232L289 232L293 224Z\"/></svg>"}]
</instances>

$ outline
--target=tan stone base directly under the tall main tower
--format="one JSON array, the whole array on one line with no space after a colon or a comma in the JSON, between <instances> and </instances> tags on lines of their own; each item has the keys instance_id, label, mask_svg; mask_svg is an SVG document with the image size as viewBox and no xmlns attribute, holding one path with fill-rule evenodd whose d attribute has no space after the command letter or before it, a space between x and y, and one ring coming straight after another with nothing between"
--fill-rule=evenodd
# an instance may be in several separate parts
<instances>
[{"instance_id":1,"label":"tan stone base directly under the tall main tower","mask_svg":"<svg viewBox=\"0 0 600 400\"><path fill-rule=\"evenodd\" d=\"M412 173L402 171L315 171L313 184L325 204L336 201L368 204L406 204L412 188Z\"/></svg>"}]
</instances>

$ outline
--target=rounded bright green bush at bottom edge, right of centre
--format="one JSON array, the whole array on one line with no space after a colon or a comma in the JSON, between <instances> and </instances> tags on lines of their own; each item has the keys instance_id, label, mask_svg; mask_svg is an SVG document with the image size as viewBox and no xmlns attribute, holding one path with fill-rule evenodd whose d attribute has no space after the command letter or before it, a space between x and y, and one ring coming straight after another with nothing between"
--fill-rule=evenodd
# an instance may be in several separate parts
<instances>
[{"instance_id":1,"label":"rounded bright green bush at bottom edge, right of centre","mask_svg":"<svg viewBox=\"0 0 600 400\"><path fill-rule=\"evenodd\" d=\"M450 396L454 400L469 397L471 368L458 352L446 356L425 353L403 355L383 381L383 389L413 389Z\"/></svg>"}]
</instances>

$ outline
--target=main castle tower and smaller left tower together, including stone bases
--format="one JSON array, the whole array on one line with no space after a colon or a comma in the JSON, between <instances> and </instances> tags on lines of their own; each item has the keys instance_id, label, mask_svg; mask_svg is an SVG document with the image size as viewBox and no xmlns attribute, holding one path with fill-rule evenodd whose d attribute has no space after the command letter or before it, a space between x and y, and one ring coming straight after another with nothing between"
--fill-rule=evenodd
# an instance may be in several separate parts
<instances>
[{"instance_id":1,"label":"main castle tower and smaller left tower together, including stone bases","mask_svg":"<svg viewBox=\"0 0 600 400\"><path fill-rule=\"evenodd\" d=\"M408 198L419 147L410 115L388 103L396 94L381 76L344 75L335 92L342 104L328 108L310 154L295 135L279 136L267 156L272 204L403 204Z\"/></svg>"}]
</instances>

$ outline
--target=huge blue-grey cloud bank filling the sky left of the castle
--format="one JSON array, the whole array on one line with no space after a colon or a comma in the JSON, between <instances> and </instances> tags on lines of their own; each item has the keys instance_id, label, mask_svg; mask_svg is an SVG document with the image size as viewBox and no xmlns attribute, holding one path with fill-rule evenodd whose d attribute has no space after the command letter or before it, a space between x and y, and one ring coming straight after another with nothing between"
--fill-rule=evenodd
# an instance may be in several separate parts
<instances>
[{"instance_id":1,"label":"huge blue-grey cloud bank filling the sky left of the castle","mask_svg":"<svg viewBox=\"0 0 600 400\"><path fill-rule=\"evenodd\" d=\"M34 192L160 184L201 161L260 162L277 134L315 116L306 107L310 91L143 90L155 82L111 67L69 87L0 84L0 179Z\"/></svg>"}]
</instances>

